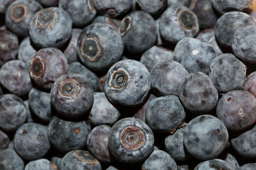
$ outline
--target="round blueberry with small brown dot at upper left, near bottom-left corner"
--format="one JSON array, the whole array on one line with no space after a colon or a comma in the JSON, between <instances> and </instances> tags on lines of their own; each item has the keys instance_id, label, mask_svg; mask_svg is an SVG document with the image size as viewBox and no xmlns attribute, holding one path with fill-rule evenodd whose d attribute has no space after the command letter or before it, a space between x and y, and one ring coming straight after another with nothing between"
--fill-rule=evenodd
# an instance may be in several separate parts
<instances>
[{"instance_id":1,"label":"round blueberry with small brown dot at upper left, near bottom-left corner","mask_svg":"<svg viewBox=\"0 0 256 170\"><path fill-rule=\"evenodd\" d=\"M22 125L14 135L14 150L22 159L36 160L44 157L50 148L47 127L28 123Z\"/></svg>"}]
</instances>

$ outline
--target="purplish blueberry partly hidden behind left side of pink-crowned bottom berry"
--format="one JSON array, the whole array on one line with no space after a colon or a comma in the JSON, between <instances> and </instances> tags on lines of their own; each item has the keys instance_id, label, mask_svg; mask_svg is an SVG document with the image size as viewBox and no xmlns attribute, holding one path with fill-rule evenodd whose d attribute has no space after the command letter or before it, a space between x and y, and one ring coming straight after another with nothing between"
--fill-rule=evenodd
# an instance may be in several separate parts
<instances>
[{"instance_id":1,"label":"purplish blueberry partly hidden behind left side of pink-crowned bottom berry","mask_svg":"<svg viewBox=\"0 0 256 170\"><path fill-rule=\"evenodd\" d=\"M108 148L108 135L111 127L108 125L99 125L94 127L87 138L87 147L90 153L100 162L111 163L114 160L113 155Z\"/></svg>"}]
</instances>

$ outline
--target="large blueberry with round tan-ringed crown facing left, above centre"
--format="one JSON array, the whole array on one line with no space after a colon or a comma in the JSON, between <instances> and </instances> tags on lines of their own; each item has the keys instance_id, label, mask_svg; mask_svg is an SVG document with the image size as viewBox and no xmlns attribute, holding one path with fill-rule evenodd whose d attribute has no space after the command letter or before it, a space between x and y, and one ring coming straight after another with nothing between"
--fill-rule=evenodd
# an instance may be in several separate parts
<instances>
[{"instance_id":1,"label":"large blueberry with round tan-ringed crown facing left, above centre","mask_svg":"<svg viewBox=\"0 0 256 170\"><path fill-rule=\"evenodd\" d=\"M88 25L77 41L77 55L84 66L106 71L121 59L124 43L118 31L109 24Z\"/></svg>"}]
</instances>

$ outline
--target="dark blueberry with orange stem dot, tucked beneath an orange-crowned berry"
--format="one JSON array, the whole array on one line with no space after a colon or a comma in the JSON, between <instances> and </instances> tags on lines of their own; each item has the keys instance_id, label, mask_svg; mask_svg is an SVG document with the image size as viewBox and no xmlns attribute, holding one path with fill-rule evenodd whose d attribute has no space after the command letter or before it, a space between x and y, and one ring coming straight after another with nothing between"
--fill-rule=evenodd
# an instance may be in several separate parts
<instances>
[{"instance_id":1,"label":"dark blueberry with orange stem dot, tucked beneath an orange-crowned berry","mask_svg":"<svg viewBox=\"0 0 256 170\"><path fill-rule=\"evenodd\" d=\"M58 151L67 153L84 148L90 131L88 122L69 122L54 117L48 126L48 138Z\"/></svg>"}]
</instances>

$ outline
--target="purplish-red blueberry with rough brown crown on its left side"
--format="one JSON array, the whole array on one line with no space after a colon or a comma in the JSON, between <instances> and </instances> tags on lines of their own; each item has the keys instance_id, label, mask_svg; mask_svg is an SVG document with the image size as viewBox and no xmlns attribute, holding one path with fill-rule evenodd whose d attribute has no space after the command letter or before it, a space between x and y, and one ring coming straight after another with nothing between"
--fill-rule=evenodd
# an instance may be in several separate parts
<instances>
[{"instance_id":1,"label":"purplish-red blueberry with rough brown crown on its left side","mask_svg":"<svg viewBox=\"0 0 256 170\"><path fill-rule=\"evenodd\" d=\"M31 60L31 79L41 88L51 89L54 81L67 73L67 59L57 48L42 48Z\"/></svg>"}]
</instances>

